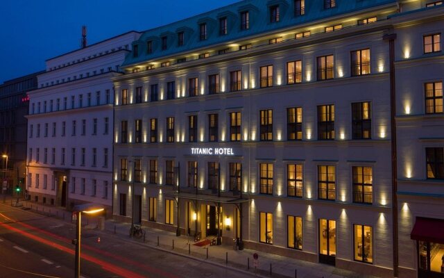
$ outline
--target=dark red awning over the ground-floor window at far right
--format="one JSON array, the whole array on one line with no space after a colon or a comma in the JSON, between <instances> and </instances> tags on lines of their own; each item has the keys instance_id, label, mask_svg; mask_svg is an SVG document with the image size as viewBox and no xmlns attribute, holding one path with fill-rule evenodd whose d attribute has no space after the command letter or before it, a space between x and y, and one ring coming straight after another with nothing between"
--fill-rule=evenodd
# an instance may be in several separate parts
<instances>
[{"instance_id":1,"label":"dark red awning over the ground-floor window at far right","mask_svg":"<svg viewBox=\"0 0 444 278\"><path fill-rule=\"evenodd\" d=\"M429 243L444 244L444 220L434 218L416 218L410 238Z\"/></svg>"}]
</instances>

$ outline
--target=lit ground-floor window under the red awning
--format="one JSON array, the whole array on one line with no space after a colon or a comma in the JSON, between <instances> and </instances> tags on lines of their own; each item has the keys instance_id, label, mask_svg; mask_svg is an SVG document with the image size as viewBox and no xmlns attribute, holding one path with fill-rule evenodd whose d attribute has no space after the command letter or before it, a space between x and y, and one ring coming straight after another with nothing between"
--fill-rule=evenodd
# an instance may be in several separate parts
<instances>
[{"instance_id":1,"label":"lit ground-floor window under the red awning","mask_svg":"<svg viewBox=\"0 0 444 278\"><path fill-rule=\"evenodd\" d=\"M419 240L418 252L419 277L444 277L444 244Z\"/></svg>"}]
</instances>

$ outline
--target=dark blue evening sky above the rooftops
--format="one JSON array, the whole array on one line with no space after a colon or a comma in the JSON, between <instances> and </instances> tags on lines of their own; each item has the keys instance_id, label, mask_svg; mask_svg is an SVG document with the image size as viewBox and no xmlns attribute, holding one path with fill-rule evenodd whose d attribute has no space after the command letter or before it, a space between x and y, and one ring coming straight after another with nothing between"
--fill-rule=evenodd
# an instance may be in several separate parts
<instances>
[{"instance_id":1,"label":"dark blue evening sky above the rooftops","mask_svg":"<svg viewBox=\"0 0 444 278\"><path fill-rule=\"evenodd\" d=\"M239 0L2 0L0 83L44 70L48 58L130 30L144 31Z\"/></svg>"}]
</instances>

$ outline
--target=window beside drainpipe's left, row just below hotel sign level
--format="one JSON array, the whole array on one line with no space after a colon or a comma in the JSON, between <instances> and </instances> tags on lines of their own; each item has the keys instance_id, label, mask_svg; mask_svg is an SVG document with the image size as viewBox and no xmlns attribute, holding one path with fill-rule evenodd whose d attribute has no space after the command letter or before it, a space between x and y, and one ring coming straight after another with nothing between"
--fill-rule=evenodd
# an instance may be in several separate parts
<instances>
[{"instance_id":1,"label":"window beside drainpipe's left, row just below hotel sign level","mask_svg":"<svg viewBox=\"0 0 444 278\"><path fill-rule=\"evenodd\" d=\"M372 167L353 166L353 202L372 204Z\"/></svg>"}]
</instances>

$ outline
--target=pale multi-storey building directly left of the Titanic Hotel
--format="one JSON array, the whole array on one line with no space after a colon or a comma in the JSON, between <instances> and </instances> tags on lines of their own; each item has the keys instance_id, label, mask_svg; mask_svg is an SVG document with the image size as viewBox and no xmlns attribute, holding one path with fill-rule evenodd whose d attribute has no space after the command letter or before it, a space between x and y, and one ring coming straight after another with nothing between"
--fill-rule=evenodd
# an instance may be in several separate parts
<instances>
[{"instance_id":1,"label":"pale multi-storey building directly left of the Titanic Hotel","mask_svg":"<svg viewBox=\"0 0 444 278\"><path fill-rule=\"evenodd\" d=\"M72 208L112 206L111 78L131 42L130 31L46 60L29 92L27 183L31 200ZM110 209L108 209L110 213Z\"/></svg>"}]
</instances>

